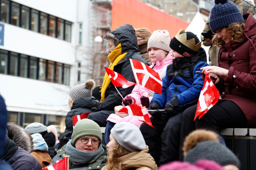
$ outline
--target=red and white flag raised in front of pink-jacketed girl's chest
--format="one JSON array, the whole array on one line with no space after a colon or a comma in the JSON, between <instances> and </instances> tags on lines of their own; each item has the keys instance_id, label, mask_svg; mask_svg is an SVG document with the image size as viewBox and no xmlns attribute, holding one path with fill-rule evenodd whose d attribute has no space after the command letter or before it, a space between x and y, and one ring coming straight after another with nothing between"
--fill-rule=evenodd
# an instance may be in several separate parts
<instances>
[{"instance_id":1,"label":"red and white flag raised in front of pink-jacketed girl's chest","mask_svg":"<svg viewBox=\"0 0 256 170\"><path fill-rule=\"evenodd\" d=\"M138 60L130 59L130 62L136 82L149 90L162 94L163 83L159 74Z\"/></svg>"}]
</instances>

